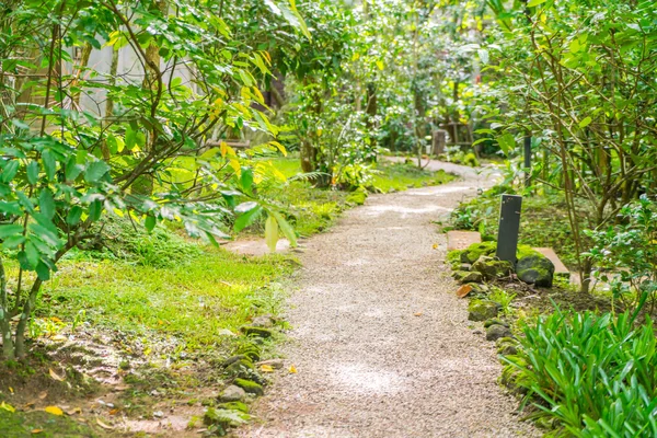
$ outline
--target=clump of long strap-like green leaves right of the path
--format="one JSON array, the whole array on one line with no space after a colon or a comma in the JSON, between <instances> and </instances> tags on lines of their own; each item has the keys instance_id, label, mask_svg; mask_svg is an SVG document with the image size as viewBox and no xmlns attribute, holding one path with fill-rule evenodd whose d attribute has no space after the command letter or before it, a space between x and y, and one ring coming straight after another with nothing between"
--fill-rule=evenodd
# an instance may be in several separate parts
<instances>
[{"instance_id":1,"label":"clump of long strap-like green leaves right of the path","mask_svg":"<svg viewBox=\"0 0 657 438\"><path fill-rule=\"evenodd\" d=\"M657 354L653 324L634 315L591 312L526 324L522 348L504 358L534 402L535 418L553 419L556 436L657 436ZM508 372L507 372L508 373Z\"/></svg>"}]
</instances>

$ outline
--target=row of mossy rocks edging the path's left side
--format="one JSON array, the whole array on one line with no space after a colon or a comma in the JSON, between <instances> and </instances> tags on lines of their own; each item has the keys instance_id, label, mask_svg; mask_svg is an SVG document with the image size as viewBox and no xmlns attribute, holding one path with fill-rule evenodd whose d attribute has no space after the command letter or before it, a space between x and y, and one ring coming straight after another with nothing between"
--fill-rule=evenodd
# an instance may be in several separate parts
<instances>
[{"instance_id":1,"label":"row of mossy rocks edging the path's left side","mask_svg":"<svg viewBox=\"0 0 657 438\"><path fill-rule=\"evenodd\" d=\"M283 368L283 360L272 359L261 361L263 341L272 337L274 319L269 315L254 319L252 325L243 326L242 333L249 342L221 364L226 387L211 400L204 402L207 411L204 423L208 430L220 436L226 435L232 427L238 427L251 419L249 403L264 395L268 380L258 371L258 367L270 369Z\"/></svg>"}]
</instances>

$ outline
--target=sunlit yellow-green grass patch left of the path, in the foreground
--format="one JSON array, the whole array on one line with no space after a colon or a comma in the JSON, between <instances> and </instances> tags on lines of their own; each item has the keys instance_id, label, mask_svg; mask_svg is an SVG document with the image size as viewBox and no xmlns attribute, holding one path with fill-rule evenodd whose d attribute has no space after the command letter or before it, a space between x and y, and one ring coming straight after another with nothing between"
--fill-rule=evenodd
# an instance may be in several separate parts
<instances>
[{"instance_id":1,"label":"sunlit yellow-green grass patch left of the path, in the foreground","mask_svg":"<svg viewBox=\"0 0 657 438\"><path fill-rule=\"evenodd\" d=\"M117 261L67 261L44 287L37 316L73 321L85 309L94 325L137 335L173 335L187 350L226 346L221 330L262 313L276 313L283 300L276 286L291 273L280 255L244 257L201 246L172 267Z\"/></svg>"}]
</instances>

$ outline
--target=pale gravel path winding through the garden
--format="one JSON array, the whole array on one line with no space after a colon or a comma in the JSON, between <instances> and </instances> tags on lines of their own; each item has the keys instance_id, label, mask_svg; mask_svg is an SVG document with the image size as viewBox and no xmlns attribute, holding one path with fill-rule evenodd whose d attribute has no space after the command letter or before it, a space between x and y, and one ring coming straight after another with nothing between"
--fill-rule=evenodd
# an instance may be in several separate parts
<instances>
[{"instance_id":1,"label":"pale gravel path winding through the garden","mask_svg":"<svg viewBox=\"0 0 657 438\"><path fill-rule=\"evenodd\" d=\"M239 436L538 436L496 383L493 345L468 327L430 223L491 178L430 168L463 180L371 196L307 243L284 347L298 373L277 377L254 410L264 423Z\"/></svg>"}]
</instances>

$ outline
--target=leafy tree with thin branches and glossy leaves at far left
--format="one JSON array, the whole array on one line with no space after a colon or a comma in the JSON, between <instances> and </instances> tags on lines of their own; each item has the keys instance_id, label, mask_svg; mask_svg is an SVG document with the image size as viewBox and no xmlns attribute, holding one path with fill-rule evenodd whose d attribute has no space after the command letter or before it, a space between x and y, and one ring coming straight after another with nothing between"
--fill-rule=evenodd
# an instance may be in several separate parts
<instances>
[{"instance_id":1,"label":"leafy tree with thin branches and glossy leaves at far left","mask_svg":"<svg viewBox=\"0 0 657 438\"><path fill-rule=\"evenodd\" d=\"M266 211L269 240L280 228L293 242L276 208L258 200L264 170L250 158L258 149L285 151L280 143L245 153L209 141L244 129L277 134L258 90L270 55L235 41L223 8L223 1L16 0L0 10L4 358L25 356L42 284L68 251L97 238L105 215L148 230L177 221L191 235L215 241L226 237L233 211L241 226ZM286 12L281 26L304 31L293 2L279 12ZM113 55L106 71L88 66L89 54L71 56L89 47L111 47L135 66L120 71ZM80 95L112 112L81 106Z\"/></svg>"}]
</instances>

